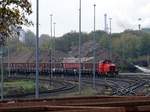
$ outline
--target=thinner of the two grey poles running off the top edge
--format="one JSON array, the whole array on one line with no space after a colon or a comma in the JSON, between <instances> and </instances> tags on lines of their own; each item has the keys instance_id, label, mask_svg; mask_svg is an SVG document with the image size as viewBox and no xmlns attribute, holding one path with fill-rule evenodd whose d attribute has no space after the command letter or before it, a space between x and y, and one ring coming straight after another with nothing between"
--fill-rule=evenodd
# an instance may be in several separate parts
<instances>
[{"instance_id":1,"label":"thinner of the two grey poles running off the top edge","mask_svg":"<svg viewBox=\"0 0 150 112\"><path fill-rule=\"evenodd\" d=\"M81 0L79 0L79 94L81 94Z\"/></svg>"}]
</instances>

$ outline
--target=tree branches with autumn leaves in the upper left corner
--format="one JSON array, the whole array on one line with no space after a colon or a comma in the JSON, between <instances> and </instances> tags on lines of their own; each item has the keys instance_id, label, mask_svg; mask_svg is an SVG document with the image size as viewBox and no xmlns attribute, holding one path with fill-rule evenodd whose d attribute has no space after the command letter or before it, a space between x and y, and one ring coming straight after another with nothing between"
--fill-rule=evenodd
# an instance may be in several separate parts
<instances>
[{"instance_id":1,"label":"tree branches with autumn leaves in the upper left corner","mask_svg":"<svg viewBox=\"0 0 150 112\"><path fill-rule=\"evenodd\" d=\"M12 33L17 32L21 25L31 25L28 16L32 13L28 0L1 0L0 1L0 45Z\"/></svg>"}]
</instances>

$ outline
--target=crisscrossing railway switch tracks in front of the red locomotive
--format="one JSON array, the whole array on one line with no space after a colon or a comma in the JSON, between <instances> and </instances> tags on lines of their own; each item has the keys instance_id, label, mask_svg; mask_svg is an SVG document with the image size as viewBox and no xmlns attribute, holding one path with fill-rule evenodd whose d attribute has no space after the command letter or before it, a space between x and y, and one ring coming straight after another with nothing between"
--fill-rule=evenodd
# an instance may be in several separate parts
<instances>
[{"instance_id":1,"label":"crisscrossing railway switch tracks in front of the red locomotive","mask_svg":"<svg viewBox=\"0 0 150 112\"><path fill-rule=\"evenodd\" d=\"M84 83L91 84L92 80L83 80ZM149 84L145 78L99 78L96 79L96 87L111 88L109 95L115 96L136 96L139 95L138 90L144 89L144 85ZM146 95L146 94L145 94Z\"/></svg>"}]
</instances>

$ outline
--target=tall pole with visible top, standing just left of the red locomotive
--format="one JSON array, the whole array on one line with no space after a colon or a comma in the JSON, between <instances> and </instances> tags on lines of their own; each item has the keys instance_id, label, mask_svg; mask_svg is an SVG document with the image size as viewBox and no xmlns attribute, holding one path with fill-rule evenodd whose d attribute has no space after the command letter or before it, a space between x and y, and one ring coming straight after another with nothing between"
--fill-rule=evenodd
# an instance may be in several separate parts
<instances>
[{"instance_id":1,"label":"tall pole with visible top, standing just left of the red locomotive","mask_svg":"<svg viewBox=\"0 0 150 112\"><path fill-rule=\"evenodd\" d=\"M95 50L96 50L96 42L95 42L95 7L96 4L94 4L94 32L93 32L93 88L95 89Z\"/></svg>"}]
</instances>

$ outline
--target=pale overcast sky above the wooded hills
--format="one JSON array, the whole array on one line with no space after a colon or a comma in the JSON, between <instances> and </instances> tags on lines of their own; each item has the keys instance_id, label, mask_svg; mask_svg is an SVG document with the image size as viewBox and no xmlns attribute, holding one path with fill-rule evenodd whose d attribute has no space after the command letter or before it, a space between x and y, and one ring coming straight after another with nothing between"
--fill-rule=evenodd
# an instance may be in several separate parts
<instances>
[{"instance_id":1,"label":"pale overcast sky above the wooded hills","mask_svg":"<svg viewBox=\"0 0 150 112\"><path fill-rule=\"evenodd\" d=\"M35 24L36 0L30 0ZM56 36L78 31L79 0L39 0L40 34L50 34L50 14L56 22ZM112 32L137 29L138 18L142 27L150 27L150 0L82 0L82 31L93 30L93 4L96 4L96 30L104 30L104 13L112 18ZM28 27L35 32L34 27Z\"/></svg>"}]
</instances>

